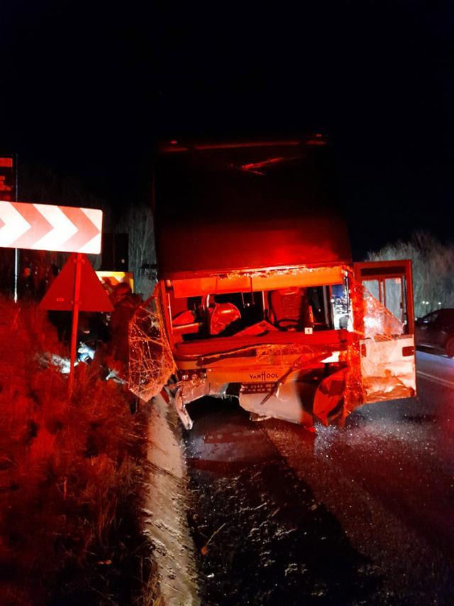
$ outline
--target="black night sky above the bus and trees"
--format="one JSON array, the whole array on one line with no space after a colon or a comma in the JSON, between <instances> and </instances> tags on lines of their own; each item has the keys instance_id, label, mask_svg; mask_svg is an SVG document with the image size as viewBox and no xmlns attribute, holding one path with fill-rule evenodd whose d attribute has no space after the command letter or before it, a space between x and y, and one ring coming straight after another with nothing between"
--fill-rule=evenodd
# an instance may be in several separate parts
<instances>
[{"instance_id":1,"label":"black night sky above the bus and trees","mask_svg":"<svg viewBox=\"0 0 454 606\"><path fill-rule=\"evenodd\" d=\"M0 149L122 207L149 197L159 139L322 131L355 256L451 239L453 3L298 5L4 2Z\"/></svg>"}]
</instances>

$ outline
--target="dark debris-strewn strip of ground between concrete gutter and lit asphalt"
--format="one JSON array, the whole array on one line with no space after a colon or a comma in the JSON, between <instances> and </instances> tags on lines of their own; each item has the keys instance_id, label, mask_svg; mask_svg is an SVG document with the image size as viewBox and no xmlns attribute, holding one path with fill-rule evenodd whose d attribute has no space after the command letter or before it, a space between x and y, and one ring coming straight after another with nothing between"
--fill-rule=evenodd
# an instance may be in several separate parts
<instances>
[{"instance_id":1,"label":"dark debris-strewn strip of ground between concrete gutter and lit asphalt","mask_svg":"<svg viewBox=\"0 0 454 606\"><path fill-rule=\"evenodd\" d=\"M385 603L380 570L261 424L212 399L192 416L185 443L201 603Z\"/></svg>"}]
</instances>

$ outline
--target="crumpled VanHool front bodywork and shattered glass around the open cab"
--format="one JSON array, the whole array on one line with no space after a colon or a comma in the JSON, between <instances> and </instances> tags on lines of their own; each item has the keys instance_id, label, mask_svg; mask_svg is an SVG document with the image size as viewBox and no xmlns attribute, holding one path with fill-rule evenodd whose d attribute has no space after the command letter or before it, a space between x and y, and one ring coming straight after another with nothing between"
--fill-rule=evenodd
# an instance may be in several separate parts
<instances>
[{"instance_id":1,"label":"crumpled VanHool front bodywork and shattered glass around the open cab","mask_svg":"<svg viewBox=\"0 0 454 606\"><path fill-rule=\"evenodd\" d=\"M323 271L319 269L319 276ZM271 272L270 281L276 285L286 278L301 284L304 272L308 281L314 280L314 271L303 268ZM233 393L240 406L256 416L272 416L304 426L312 426L314 417L324 424L338 417L345 419L367 402L412 396L416 391L413 336L362 283L355 281L348 268L347 274L343 328L295 332L294 337L285 333L294 342L266 342L279 340L283 333L278 330L267 332L265 342L260 342L260 331L270 327L260 322L240 330L233 340L211 337L212 341L205 338L197 342L191 338L182 344L179 341L172 349L156 291L131 321L131 390L149 400L167 385L167 399L175 404L186 428L192 427L186 405L202 396ZM323 275L329 274L325 271ZM216 284L226 293L227 288L219 286L223 281L247 280L253 289L259 288L253 282L259 278L266 281L267 272L223 274L216 278ZM199 278L195 278L197 282L190 279L187 283L175 281L179 296L199 292ZM176 326L175 334L177 330ZM248 345L243 345L245 342ZM179 380L169 382L175 369ZM237 386L236 391L231 386Z\"/></svg>"}]
</instances>

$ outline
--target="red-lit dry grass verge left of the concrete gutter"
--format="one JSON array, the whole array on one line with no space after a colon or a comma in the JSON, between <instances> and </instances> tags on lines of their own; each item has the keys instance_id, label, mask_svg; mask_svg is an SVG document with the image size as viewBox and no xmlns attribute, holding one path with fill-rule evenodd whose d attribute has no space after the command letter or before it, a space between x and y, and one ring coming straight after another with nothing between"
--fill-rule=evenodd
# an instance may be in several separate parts
<instances>
[{"instance_id":1,"label":"red-lit dry grass verge left of the concrete gutter","mask_svg":"<svg viewBox=\"0 0 454 606\"><path fill-rule=\"evenodd\" d=\"M43 314L0 301L0 602L140 602L145 413L77 367L76 388L40 364L60 345Z\"/></svg>"}]
</instances>

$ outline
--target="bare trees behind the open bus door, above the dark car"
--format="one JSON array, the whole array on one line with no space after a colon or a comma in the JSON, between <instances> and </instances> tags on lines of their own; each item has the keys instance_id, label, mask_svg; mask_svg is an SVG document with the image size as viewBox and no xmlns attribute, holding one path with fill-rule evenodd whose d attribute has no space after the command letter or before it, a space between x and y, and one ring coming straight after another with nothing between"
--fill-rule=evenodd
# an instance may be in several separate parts
<instances>
[{"instance_id":1,"label":"bare trees behind the open bus door, above the dark car","mask_svg":"<svg viewBox=\"0 0 454 606\"><path fill-rule=\"evenodd\" d=\"M368 261L411 259L416 316L454 307L454 247L442 244L428 232L415 232L408 242L399 240L367 254Z\"/></svg>"}]
</instances>

